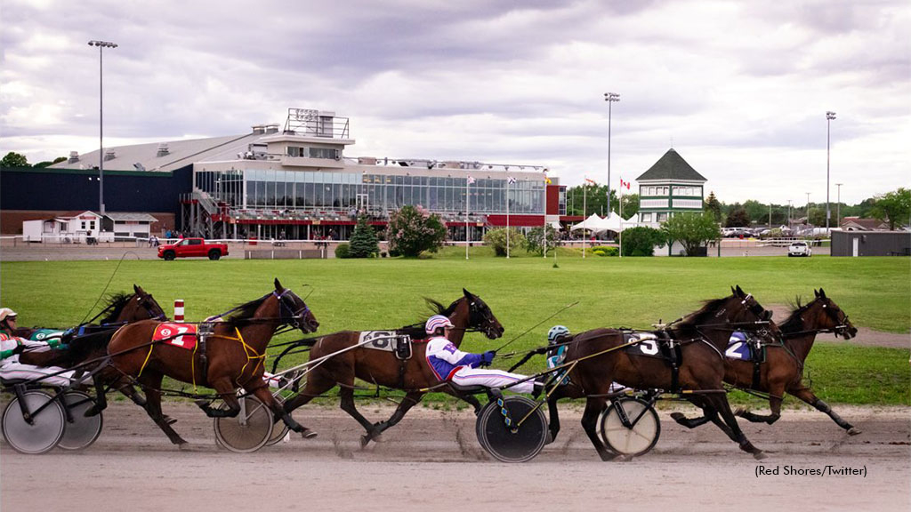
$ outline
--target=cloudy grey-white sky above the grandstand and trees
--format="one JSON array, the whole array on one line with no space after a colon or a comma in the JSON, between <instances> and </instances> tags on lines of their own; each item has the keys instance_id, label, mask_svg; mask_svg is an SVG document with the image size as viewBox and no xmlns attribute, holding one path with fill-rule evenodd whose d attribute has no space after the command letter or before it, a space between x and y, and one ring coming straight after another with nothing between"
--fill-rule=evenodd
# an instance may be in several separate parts
<instances>
[{"instance_id":1,"label":"cloudy grey-white sky above the grandstand and trees","mask_svg":"<svg viewBox=\"0 0 911 512\"><path fill-rule=\"evenodd\" d=\"M635 179L675 148L724 202L855 203L911 186L906 0L0 0L0 151L351 119L347 156ZM904 36L902 34L905 34Z\"/></svg>"}]
</instances>

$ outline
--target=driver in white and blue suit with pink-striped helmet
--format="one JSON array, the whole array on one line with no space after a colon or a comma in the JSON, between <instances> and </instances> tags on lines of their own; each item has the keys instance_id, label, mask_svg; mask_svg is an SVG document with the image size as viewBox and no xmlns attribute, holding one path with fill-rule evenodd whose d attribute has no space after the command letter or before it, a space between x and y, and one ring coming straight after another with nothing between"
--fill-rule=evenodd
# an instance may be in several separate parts
<instances>
[{"instance_id":1,"label":"driver in white and blue suit with pink-striped helmet","mask_svg":"<svg viewBox=\"0 0 911 512\"><path fill-rule=\"evenodd\" d=\"M466 353L458 350L448 340L452 329L453 324L440 314L431 316L425 323L425 332L429 337L426 349L427 364L441 382L452 381L461 386L483 385L494 388L517 383L527 378L525 375L509 374L502 370L478 369L482 366L489 366L496 353L493 351ZM540 394L542 388L543 384L529 380L515 384L509 387L509 390L537 395Z\"/></svg>"}]
</instances>

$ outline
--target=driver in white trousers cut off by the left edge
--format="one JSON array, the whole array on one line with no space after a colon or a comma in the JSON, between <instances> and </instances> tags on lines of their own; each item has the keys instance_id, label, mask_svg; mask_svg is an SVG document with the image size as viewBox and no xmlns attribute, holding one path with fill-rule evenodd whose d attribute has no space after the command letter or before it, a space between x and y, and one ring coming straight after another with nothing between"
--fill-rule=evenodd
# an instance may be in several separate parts
<instances>
[{"instance_id":1,"label":"driver in white trousers cut off by the left edge","mask_svg":"<svg viewBox=\"0 0 911 512\"><path fill-rule=\"evenodd\" d=\"M34 366L19 363L19 354L28 352L47 352L60 343L59 338L50 343L26 340L14 334L15 311L9 308L0 309L0 378L12 379L40 379L42 383L64 387L70 384L73 372L64 372L63 368L56 366Z\"/></svg>"}]
</instances>

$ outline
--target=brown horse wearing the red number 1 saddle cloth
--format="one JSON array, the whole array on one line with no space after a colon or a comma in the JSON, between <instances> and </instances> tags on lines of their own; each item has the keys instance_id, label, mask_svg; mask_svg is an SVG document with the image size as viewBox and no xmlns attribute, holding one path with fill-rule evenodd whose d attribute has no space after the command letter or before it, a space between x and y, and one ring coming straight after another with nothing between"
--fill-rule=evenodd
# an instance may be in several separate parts
<instances>
[{"instance_id":1,"label":"brown horse wearing the red number 1 saddle cloth","mask_svg":"<svg viewBox=\"0 0 911 512\"><path fill-rule=\"evenodd\" d=\"M111 370L108 368L105 377L113 375L118 388L138 383L148 399L146 412L175 445L184 445L186 441L174 432L161 414L160 388L165 375L215 389L228 409L200 403L200 408L211 417L238 415L241 404L236 390L241 387L248 394L255 394L292 430L306 434L307 429L284 412L262 381L266 346L281 325L312 333L319 323L307 304L276 279L274 292L242 304L223 322L214 323L213 333L206 338L205 358L197 351L152 342L158 322L130 323L122 327L107 346L114 371L108 371Z\"/></svg>"}]
</instances>

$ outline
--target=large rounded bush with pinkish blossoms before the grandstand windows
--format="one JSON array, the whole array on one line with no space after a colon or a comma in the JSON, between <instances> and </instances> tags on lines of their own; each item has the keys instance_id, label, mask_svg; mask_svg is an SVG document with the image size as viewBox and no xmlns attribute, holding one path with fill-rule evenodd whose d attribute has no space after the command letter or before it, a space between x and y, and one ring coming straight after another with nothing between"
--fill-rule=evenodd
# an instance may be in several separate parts
<instances>
[{"instance_id":1,"label":"large rounded bush with pinkish blossoms before the grandstand windows","mask_svg":"<svg viewBox=\"0 0 911 512\"><path fill-rule=\"evenodd\" d=\"M389 218L386 240L390 253L416 258L421 252L436 252L446 239L446 227L440 216L407 205Z\"/></svg>"}]
</instances>

